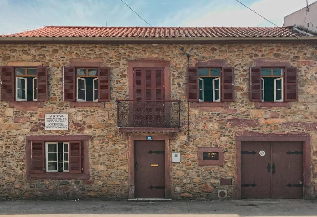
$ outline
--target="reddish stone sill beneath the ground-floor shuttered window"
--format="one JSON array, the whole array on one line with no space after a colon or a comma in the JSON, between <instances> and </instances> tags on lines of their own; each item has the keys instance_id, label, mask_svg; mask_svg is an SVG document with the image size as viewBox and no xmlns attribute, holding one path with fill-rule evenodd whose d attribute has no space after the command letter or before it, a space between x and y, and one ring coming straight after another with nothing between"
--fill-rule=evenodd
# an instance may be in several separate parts
<instances>
[{"instance_id":1,"label":"reddish stone sill beneath the ground-floor shuttered window","mask_svg":"<svg viewBox=\"0 0 317 217\"><path fill-rule=\"evenodd\" d=\"M27 179L89 179L85 173L30 173Z\"/></svg>"}]
</instances>

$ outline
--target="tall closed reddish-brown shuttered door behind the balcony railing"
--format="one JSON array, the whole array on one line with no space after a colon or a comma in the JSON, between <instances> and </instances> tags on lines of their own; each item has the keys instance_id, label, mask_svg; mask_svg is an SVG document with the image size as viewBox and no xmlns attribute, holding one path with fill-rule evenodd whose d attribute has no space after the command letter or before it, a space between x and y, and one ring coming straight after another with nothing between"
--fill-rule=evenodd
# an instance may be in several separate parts
<instances>
[{"instance_id":1,"label":"tall closed reddish-brown shuttered door behind the balcony railing","mask_svg":"<svg viewBox=\"0 0 317 217\"><path fill-rule=\"evenodd\" d=\"M162 126L166 123L163 68L133 69L133 125Z\"/></svg>"}]
</instances>

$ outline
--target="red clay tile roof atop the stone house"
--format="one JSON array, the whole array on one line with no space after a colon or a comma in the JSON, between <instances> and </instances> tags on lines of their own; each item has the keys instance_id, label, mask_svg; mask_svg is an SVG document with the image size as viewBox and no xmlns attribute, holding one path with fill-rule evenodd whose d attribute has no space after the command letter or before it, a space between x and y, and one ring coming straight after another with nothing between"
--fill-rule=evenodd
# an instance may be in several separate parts
<instances>
[{"instance_id":1,"label":"red clay tile roof atop the stone house","mask_svg":"<svg viewBox=\"0 0 317 217\"><path fill-rule=\"evenodd\" d=\"M291 27L89 27L45 26L0 37L113 37L113 38L196 38L196 37L288 37L307 36Z\"/></svg>"}]
</instances>

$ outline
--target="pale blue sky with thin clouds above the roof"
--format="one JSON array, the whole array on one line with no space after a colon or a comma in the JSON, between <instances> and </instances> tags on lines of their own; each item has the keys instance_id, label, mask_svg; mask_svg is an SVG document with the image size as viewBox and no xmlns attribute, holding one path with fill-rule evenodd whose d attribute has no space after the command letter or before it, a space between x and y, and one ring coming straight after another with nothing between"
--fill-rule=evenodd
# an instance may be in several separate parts
<instances>
[{"instance_id":1,"label":"pale blue sky with thin clouds above the roof","mask_svg":"<svg viewBox=\"0 0 317 217\"><path fill-rule=\"evenodd\" d=\"M272 27L236 0L124 0L152 26ZM282 26L306 0L240 0ZM308 0L308 4L316 0ZM0 0L0 34L42 26L148 26L120 0Z\"/></svg>"}]
</instances>

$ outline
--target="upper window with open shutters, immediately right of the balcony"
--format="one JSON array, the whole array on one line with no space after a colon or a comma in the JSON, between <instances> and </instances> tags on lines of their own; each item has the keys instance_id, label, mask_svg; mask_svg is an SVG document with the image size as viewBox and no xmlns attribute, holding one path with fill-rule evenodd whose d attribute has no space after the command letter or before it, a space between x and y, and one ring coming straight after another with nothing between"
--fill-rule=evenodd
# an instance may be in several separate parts
<instances>
[{"instance_id":1,"label":"upper window with open shutters, immediately right of the balcony","mask_svg":"<svg viewBox=\"0 0 317 217\"><path fill-rule=\"evenodd\" d=\"M234 100L232 67L187 67L187 100L225 102Z\"/></svg>"}]
</instances>

